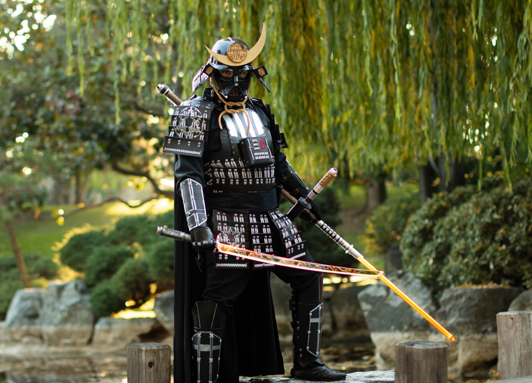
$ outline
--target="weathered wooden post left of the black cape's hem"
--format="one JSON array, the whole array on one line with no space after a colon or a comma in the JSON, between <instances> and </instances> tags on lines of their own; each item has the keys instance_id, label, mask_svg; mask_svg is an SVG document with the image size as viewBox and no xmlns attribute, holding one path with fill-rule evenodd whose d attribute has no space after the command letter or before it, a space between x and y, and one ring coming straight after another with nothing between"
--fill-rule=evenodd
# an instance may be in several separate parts
<instances>
[{"instance_id":1,"label":"weathered wooden post left of the black cape's hem","mask_svg":"<svg viewBox=\"0 0 532 383\"><path fill-rule=\"evenodd\" d=\"M170 346L153 342L129 345L128 383L170 383Z\"/></svg>"}]
</instances>

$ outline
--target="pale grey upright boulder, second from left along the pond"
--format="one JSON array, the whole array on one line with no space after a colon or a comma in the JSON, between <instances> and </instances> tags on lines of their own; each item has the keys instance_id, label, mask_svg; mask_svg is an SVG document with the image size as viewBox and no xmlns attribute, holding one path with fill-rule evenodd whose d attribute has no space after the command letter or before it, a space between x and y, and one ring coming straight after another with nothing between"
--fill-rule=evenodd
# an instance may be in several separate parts
<instances>
[{"instance_id":1,"label":"pale grey upright boulder, second from left along the pond","mask_svg":"<svg viewBox=\"0 0 532 383\"><path fill-rule=\"evenodd\" d=\"M47 346L85 346L94 325L87 287L81 281L51 283L39 317Z\"/></svg>"}]
</instances>

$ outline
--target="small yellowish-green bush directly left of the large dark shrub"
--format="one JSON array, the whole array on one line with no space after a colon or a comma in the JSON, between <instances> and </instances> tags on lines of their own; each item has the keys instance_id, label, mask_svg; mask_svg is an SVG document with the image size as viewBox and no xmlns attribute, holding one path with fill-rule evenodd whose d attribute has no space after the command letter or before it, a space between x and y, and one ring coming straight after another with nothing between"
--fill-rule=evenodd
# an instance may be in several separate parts
<instances>
[{"instance_id":1,"label":"small yellowish-green bush directly left of the large dark shrub","mask_svg":"<svg viewBox=\"0 0 532 383\"><path fill-rule=\"evenodd\" d=\"M366 254L385 255L399 243L407 219L420 207L419 195L386 200L373 211L366 222L364 245Z\"/></svg>"}]
</instances>

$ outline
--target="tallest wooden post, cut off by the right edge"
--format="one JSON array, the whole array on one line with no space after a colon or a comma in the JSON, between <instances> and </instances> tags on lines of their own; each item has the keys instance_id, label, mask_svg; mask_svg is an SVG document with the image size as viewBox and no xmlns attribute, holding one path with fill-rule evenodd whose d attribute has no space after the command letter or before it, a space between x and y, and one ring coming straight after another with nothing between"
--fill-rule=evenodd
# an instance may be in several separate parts
<instances>
[{"instance_id":1,"label":"tallest wooden post, cut off by the right edge","mask_svg":"<svg viewBox=\"0 0 532 383\"><path fill-rule=\"evenodd\" d=\"M532 375L532 311L497 314L501 380Z\"/></svg>"}]
</instances>

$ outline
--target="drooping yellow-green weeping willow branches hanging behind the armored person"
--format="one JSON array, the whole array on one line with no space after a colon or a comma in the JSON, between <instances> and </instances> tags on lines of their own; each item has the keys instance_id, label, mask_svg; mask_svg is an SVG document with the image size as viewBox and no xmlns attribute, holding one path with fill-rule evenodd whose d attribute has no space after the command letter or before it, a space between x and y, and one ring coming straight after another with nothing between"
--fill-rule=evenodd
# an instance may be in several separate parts
<instances>
[{"instance_id":1,"label":"drooping yellow-green weeping willow branches hanging behind the armored person","mask_svg":"<svg viewBox=\"0 0 532 383\"><path fill-rule=\"evenodd\" d=\"M481 176L500 153L508 178L517 153L532 160L531 0L107 0L103 12L66 1L81 72L91 23L106 19L117 117L122 82L172 79L188 97L204 45L227 36L253 45L265 22L255 64L267 66L272 94L258 85L252 94L272 104L298 168L353 176L465 156Z\"/></svg>"}]
</instances>

